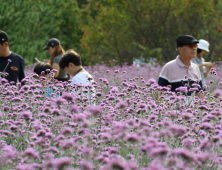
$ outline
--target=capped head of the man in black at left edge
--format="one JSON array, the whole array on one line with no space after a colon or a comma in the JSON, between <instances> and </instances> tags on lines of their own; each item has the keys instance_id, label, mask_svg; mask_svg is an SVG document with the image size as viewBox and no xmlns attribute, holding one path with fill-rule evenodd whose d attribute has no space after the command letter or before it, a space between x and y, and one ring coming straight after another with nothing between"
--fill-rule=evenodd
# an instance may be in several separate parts
<instances>
[{"instance_id":1,"label":"capped head of the man in black at left edge","mask_svg":"<svg viewBox=\"0 0 222 170\"><path fill-rule=\"evenodd\" d=\"M0 30L0 57L6 57L9 53L8 35Z\"/></svg>"}]
</instances>

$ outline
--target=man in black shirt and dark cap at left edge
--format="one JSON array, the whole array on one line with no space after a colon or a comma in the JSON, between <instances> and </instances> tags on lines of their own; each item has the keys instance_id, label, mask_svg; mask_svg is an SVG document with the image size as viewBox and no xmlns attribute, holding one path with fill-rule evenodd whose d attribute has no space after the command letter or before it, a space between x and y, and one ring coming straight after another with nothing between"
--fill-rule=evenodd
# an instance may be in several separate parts
<instances>
[{"instance_id":1,"label":"man in black shirt and dark cap at left edge","mask_svg":"<svg viewBox=\"0 0 222 170\"><path fill-rule=\"evenodd\" d=\"M11 84L16 84L17 80L21 82L25 78L25 63L24 59L9 50L8 35L0 30L0 73Z\"/></svg>"}]
</instances>

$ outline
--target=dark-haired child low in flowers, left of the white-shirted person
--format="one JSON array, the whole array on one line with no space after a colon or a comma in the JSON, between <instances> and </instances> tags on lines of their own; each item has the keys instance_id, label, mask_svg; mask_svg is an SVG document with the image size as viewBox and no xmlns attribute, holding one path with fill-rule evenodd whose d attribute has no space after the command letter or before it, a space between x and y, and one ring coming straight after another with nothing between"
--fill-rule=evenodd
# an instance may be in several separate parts
<instances>
[{"instance_id":1,"label":"dark-haired child low in flowers, left of the white-shirted person","mask_svg":"<svg viewBox=\"0 0 222 170\"><path fill-rule=\"evenodd\" d=\"M45 94L47 97L51 97L52 93L56 93L55 87L54 87L55 89L53 89L52 87L47 87L47 82L50 82L54 77L54 73L52 72L52 67L49 64L45 63L36 64L36 66L34 67L34 73L38 74L38 78L41 81L41 85L43 89L46 90ZM56 96L59 97L58 94Z\"/></svg>"}]
</instances>

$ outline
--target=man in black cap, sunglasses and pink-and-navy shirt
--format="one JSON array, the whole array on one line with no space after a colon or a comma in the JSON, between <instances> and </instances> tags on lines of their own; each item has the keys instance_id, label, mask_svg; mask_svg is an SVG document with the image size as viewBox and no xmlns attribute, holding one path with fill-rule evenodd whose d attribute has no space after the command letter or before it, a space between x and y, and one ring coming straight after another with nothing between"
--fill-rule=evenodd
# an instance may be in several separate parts
<instances>
[{"instance_id":1,"label":"man in black cap, sunglasses and pink-and-navy shirt","mask_svg":"<svg viewBox=\"0 0 222 170\"><path fill-rule=\"evenodd\" d=\"M203 95L199 93L199 90L202 89L200 70L196 64L191 62L197 54L199 41L190 35L182 35L176 39L176 42L179 55L175 60L163 66L158 85L171 87L171 91L183 92L188 96L196 90L197 96L202 98ZM195 88L192 85L195 85Z\"/></svg>"}]
</instances>

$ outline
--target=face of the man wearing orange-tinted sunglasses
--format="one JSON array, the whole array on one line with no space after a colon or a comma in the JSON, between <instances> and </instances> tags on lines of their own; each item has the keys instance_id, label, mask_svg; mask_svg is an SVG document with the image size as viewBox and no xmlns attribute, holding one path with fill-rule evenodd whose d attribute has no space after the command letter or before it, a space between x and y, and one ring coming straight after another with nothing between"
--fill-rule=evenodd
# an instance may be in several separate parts
<instances>
[{"instance_id":1,"label":"face of the man wearing orange-tinted sunglasses","mask_svg":"<svg viewBox=\"0 0 222 170\"><path fill-rule=\"evenodd\" d=\"M188 58L194 58L197 54L197 44L189 44L180 47L179 49L180 55Z\"/></svg>"}]
</instances>

